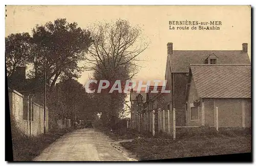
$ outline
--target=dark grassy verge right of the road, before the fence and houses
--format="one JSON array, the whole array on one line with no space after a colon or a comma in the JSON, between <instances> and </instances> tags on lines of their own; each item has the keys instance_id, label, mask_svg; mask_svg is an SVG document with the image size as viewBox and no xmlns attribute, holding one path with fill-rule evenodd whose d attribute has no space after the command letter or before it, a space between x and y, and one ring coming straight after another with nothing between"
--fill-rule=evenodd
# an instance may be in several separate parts
<instances>
[{"instance_id":1,"label":"dark grassy verge right of the road, before the fence and houses","mask_svg":"<svg viewBox=\"0 0 256 166\"><path fill-rule=\"evenodd\" d=\"M126 132L133 131L126 129ZM113 133L112 136L125 137L119 137L119 135L125 135L124 133L118 133L118 131ZM136 153L140 160L251 152L250 129L220 128L217 132L210 127L177 128L176 133L175 141L172 136L167 134L157 134L155 137L150 134L135 134L132 142L121 142L120 144Z\"/></svg>"}]
</instances>

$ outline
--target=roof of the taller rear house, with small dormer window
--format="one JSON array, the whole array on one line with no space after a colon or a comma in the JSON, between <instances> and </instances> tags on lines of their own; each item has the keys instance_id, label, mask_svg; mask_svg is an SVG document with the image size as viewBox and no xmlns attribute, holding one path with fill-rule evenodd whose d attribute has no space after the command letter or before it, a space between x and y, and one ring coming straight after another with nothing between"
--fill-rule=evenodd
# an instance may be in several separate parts
<instances>
[{"instance_id":1,"label":"roof of the taller rear house, with small dormer window","mask_svg":"<svg viewBox=\"0 0 256 166\"><path fill-rule=\"evenodd\" d=\"M211 54L218 57L217 64L250 64L247 52L242 50L174 50L169 55L172 72L187 72L189 64L204 64Z\"/></svg>"}]
</instances>

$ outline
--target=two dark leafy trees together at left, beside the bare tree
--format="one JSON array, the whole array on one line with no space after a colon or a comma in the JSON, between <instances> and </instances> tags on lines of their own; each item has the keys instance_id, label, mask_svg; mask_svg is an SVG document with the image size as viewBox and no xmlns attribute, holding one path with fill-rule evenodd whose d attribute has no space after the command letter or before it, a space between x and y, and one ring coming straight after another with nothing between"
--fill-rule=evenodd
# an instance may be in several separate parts
<instances>
[{"instance_id":1,"label":"two dark leafy trees together at left, beside the bare tree","mask_svg":"<svg viewBox=\"0 0 256 166\"><path fill-rule=\"evenodd\" d=\"M11 34L6 38L7 76L10 77L18 66L30 66L28 76L44 82L52 90L58 78L77 78L82 67L78 62L85 60L84 54L92 43L91 33L57 19L45 25L36 25L29 33Z\"/></svg>"}]
</instances>

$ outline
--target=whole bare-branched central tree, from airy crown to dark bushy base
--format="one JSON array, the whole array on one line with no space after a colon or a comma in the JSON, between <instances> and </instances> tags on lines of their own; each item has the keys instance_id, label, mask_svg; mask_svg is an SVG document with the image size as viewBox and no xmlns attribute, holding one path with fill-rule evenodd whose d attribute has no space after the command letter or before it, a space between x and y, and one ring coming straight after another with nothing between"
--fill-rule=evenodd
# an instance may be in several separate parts
<instances>
[{"instance_id":1,"label":"whole bare-branched central tree, from airy crown to dark bushy base","mask_svg":"<svg viewBox=\"0 0 256 166\"><path fill-rule=\"evenodd\" d=\"M140 27L132 26L129 21L118 19L116 22L98 24L91 30L92 45L86 57L87 70L94 71L94 79L105 79L114 84L115 80L125 82L138 73L139 55L147 48ZM96 94L101 104L103 122L114 123L122 112L126 94L113 92ZM110 125L106 123L106 125Z\"/></svg>"}]
</instances>

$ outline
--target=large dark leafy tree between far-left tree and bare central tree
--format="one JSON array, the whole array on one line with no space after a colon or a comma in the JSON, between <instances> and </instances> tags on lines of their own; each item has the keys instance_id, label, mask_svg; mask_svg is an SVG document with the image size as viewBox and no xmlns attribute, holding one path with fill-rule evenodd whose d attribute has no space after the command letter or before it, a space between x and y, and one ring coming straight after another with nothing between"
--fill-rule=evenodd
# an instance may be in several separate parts
<instances>
[{"instance_id":1,"label":"large dark leafy tree between far-left tree and bare central tree","mask_svg":"<svg viewBox=\"0 0 256 166\"><path fill-rule=\"evenodd\" d=\"M79 77L83 67L78 62L84 60L92 39L87 30L69 23L66 18L36 25L33 29L32 75L42 77L47 71L47 84L52 89L59 77Z\"/></svg>"}]
</instances>

